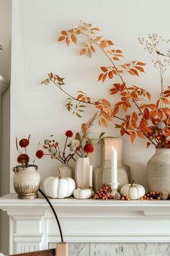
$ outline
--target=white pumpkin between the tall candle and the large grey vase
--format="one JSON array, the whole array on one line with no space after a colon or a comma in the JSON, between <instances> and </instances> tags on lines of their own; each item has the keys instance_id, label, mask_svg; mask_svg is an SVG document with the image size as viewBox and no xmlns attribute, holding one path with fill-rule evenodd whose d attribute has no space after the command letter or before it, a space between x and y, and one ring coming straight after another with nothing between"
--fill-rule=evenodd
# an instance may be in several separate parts
<instances>
[{"instance_id":1,"label":"white pumpkin between the tall candle and the large grey vase","mask_svg":"<svg viewBox=\"0 0 170 256\"><path fill-rule=\"evenodd\" d=\"M134 184L134 180L131 184L126 184L120 189L120 194L122 197L130 197L132 200L140 199L145 195L146 191L144 187L140 184Z\"/></svg>"}]
</instances>

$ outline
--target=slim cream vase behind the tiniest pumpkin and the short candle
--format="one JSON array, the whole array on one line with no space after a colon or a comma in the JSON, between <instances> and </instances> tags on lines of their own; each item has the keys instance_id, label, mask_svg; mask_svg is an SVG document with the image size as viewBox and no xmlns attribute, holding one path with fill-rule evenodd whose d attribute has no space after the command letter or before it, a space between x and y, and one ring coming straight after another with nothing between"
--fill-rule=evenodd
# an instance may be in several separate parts
<instances>
[{"instance_id":1,"label":"slim cream vase behind the tiniest pumpkin and the short candle","mask_svg":"<svg viewBox=\"0 0 170 256\"><path fill-rule=\"evenodd\" d=\"M75 166L76 188L89 188L89 158L77 158Z\"/></svg>"}]
</instances>

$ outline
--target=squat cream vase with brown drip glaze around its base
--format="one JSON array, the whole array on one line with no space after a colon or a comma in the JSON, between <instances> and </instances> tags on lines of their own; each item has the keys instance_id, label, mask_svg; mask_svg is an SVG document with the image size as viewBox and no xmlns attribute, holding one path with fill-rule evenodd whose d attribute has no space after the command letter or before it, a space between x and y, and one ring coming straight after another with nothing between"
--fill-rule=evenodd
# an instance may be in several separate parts
<instances>
[{"instance_id":1,"label":"squat cream vase with brown drip glaze around its base","mask_svg":"<svg viewBox=\"0 0 170 256\"><path fill-rule=\"evenodd\" d=\"M14 171L14 190L18 198L32 199L38 197L37 191L40 188L40 174L37 172L37 166L16 166Z\"/></svg>"}]
</instances>

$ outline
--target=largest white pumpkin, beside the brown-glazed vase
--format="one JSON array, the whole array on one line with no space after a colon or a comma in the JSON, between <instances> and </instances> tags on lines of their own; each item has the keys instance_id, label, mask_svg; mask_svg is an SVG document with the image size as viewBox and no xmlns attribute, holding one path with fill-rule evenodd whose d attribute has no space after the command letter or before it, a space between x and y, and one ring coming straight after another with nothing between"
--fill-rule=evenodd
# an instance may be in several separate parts
<instances>
[{"instance_id":1,"label":"largest white pumpkin, beside the brown-glazed vase","mask_svg":"<svg viewBox=\"0 0 170 256\"><path fill-rule=\"evenodd\" d=\"M43 189L48 197L64 198L71 197L76 184L70 177L62 178L60 168L58 168L58 177L50 176L45 179Z\"/></svg>"}]
</instances>

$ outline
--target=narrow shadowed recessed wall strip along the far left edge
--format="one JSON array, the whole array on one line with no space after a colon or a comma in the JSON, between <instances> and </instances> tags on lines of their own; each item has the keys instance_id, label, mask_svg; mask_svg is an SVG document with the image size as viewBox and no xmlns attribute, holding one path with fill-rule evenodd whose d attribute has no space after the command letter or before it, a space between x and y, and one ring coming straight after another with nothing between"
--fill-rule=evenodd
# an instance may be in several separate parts
<instances>
[{"instance_id":1,"label":"narrow shadowed recessed wall strip along the far left edge","mask_svg":"<svg viewBox=\"0 0 170 256\"><path fill-rule=\"evenodd\" d=\"M12 0L0 0L0 44L4 51L0 52L0 74L11 80L11 38L12 38ZM0 196L9 193L10 179L10 90L6 90L1 101L1 160L0 160ZM0 252L9 252L9 218L0 213Z\"/></svg>"}]
</instances>

